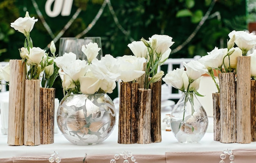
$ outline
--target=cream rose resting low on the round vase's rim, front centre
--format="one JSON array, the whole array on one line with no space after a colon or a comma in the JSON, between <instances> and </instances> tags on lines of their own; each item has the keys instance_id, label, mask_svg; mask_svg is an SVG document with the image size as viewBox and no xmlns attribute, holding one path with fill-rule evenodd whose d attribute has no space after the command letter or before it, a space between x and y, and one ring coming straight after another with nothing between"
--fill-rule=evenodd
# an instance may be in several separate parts
<instances>
[{"instance_id":1,"label":"cream rose resting low on the round vase's rim, front centre","mask_svg":"<svg viewBox=\"0 0 256 163\"><path fill-rule=\"evenodd\" d=\"M86 76L79 78L80 90L84 94L93 94L99 91L100 88L100 80L89 74L90 73L87 73Z\"/></svg>"}]
</instances>

